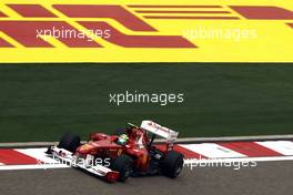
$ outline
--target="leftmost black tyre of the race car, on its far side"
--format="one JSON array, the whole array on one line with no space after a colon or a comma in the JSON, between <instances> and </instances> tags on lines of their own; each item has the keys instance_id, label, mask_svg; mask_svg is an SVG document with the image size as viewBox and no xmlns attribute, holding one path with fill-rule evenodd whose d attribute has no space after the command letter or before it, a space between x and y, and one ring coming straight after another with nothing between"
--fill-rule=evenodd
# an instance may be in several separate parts
<instances>
[{"instance_id":1,"label":"leftmost black tyre of the race car, on its far side","mask_svg":"<svg viewBox=\"0 0 293 195\"><path fill-rule=\"evenodd\" d=\"M80 136L78 135L74 135L72 133L65 133L59 144L58 144L58 147L60 148L64 148L64 150L68 150L72 153L75 152L75 150L78 148L78 146L80 146Z\"/></svg>"}]
</instances>

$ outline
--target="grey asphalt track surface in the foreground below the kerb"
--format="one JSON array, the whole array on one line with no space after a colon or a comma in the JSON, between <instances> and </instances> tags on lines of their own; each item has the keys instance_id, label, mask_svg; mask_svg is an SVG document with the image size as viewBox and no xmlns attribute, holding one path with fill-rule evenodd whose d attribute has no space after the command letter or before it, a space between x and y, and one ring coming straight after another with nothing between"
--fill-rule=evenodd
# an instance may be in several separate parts
<instances>
[{"instance_id":1,"label":"grey asphalt track surface in the foreground below the kerb","mask_svg":"<svg viewBox=\"0 0 293 195\"><path fill-rule=\"evenodd\" d=\"M109 184L72 168L1 171L0 194L119 194L119 195L289 195L293 186L293 162L262 162L256 167L186 167L176 179L135 177Z\"/></svg>"}]
</instances>

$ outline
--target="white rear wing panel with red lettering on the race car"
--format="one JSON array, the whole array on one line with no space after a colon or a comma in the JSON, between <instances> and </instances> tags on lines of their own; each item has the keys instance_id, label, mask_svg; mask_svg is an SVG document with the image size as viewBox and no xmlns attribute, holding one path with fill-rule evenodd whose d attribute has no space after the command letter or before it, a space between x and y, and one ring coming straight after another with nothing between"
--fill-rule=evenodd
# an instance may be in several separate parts
<instances>
[{"instance_id":1,"label":"white rear wing panel with red lettering on the race car","mask_svg":"<svg viewBox=\"0 0 293 195\"><path fill-rule=\"evenodd\" d=\"M146 132L153 133L165 138L168 142L174 142L178 137L179 132L170 130L165 126L161 126L152 121L142 121L141 129L145 130Z\"/></svg>"}]
</instances>

